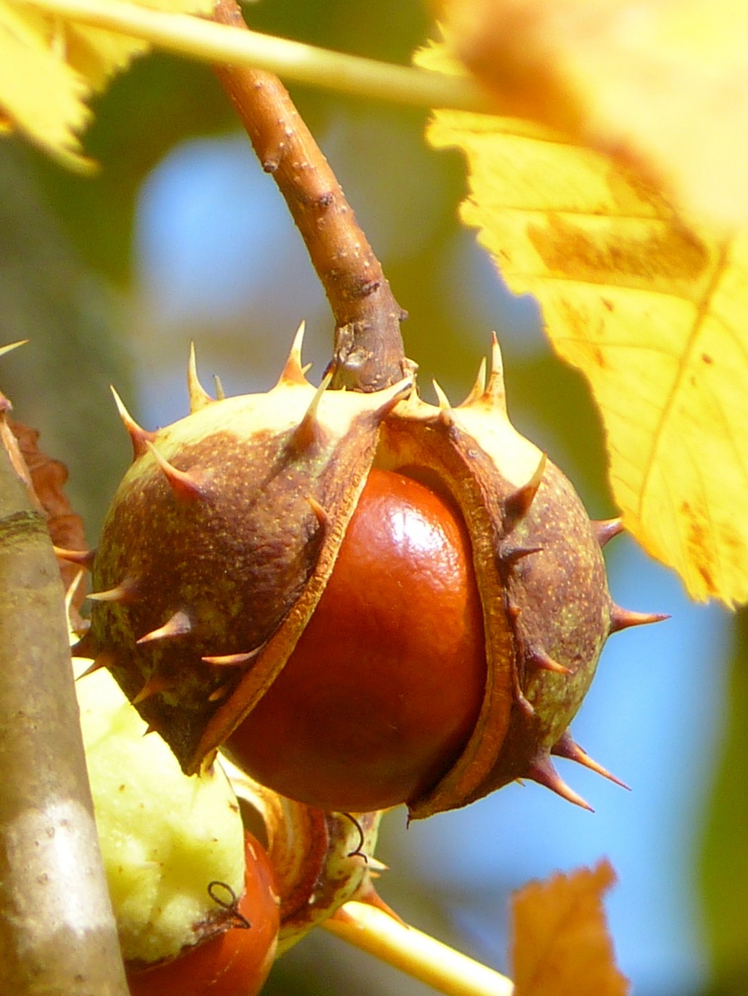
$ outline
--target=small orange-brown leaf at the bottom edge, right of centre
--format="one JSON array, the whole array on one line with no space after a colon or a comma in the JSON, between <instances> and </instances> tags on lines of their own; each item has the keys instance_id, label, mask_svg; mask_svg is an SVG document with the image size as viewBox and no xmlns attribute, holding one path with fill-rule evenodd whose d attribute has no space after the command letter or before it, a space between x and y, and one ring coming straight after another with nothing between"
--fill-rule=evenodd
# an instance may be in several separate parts
<instances>
[{"instance_id":1,"label":"small orange-brown leaf at the bottom edge, right of centre","mask_svg":"<svg viewBox=\"0 0 748 996\"><path fill-rule=\"evenodd\" d=\"M515 996L626 996L602 908L607 862L530 882L512 900Z\"/></svg>"}]
</instances>

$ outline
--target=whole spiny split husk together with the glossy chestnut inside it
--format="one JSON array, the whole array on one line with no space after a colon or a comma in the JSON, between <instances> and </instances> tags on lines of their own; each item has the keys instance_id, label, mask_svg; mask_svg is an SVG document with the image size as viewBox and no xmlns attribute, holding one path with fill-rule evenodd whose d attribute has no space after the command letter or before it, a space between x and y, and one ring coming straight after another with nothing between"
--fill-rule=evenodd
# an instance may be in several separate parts
<instances>
[{"instance_id":1,"label":"whole spiny split husk together with the glossy chestnut inside it","mask_svg":"<svg viewBox=\"0 0 748 996\"><path fill-rule=\"evenodd\" d=\"M586 807L552 755L612 777L569 723L607 636L665 618L610 599L601 548L620 523L591 522L511 424L496 338L488 380L453 406L411 376L315 387L301 334L266 393L212 399L192 354L186 418L148 431L118 400L134 462L79 652L186 773L227 744L327 810L418 819L517 779Z\"/></svg>"}]
</instances>

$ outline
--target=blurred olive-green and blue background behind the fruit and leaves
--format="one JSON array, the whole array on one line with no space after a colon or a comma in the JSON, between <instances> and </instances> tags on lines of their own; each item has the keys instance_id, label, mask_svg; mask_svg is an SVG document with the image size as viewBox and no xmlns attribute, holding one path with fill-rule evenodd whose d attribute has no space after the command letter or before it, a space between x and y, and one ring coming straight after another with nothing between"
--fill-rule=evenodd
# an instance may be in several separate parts
<instances>
[{"instance_id":1,"label":"blurred olive-green and blue background behind the fruit and leaves","mask_svg":"<svg viewBox=\"0 0 748 996\"><path fill-rule=\"evenodd\" d=\"M382 0L262 0L258 30L407 62L429 34L425 7ZM591 514L613 514L599 421L584 382L547 347L534 303L503 289L458 224L457 154L430 151L426 115L295 89L410 318L422 390L467 393L496 329L518 427L548 449ZM130 456L108 390L149 427L185 413L187 348L203 382L272 384L301 319L312 375L331 318L272 180L253 161L203 67L138 62L96 106L85 138L94 178L64 172L18 139L0 144L0 342L16 416L70 468L95 543ZM715 472L717 468L715 468ZM748 672L745 614L694 607L626 539L608 558L617 601L673 619L615 637L574 731L633 785L564 776L597 813L513 786L405 828L388 817L384 897L422 929L508 970L507 899L532 876L608 855L621 967L640 996L748 992ZM732 666L730 666L732 665ZM317 931L282 958L268 994L428 990Z\"/></svg>"}]
</instances>

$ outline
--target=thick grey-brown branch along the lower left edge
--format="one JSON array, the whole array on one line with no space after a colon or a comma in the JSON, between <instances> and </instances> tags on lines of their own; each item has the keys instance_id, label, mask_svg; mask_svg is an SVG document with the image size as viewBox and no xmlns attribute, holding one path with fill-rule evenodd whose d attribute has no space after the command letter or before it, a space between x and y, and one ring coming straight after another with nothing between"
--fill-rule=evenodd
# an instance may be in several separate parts
<instances>
[{"instance_id":1,"label":"thick grey-brown branch along the lower left edge","mask_svg":"<svg viewBox=\"0 0 748 996\"><path fill-rule=\"evenodd\" d=\"M4 412L0 434L13 451ZM19 476L20 454L14 452L14 466L2 442L0 992L127 996L81 741L60 573L43 514Z\"/></svg>"}]
</instances>

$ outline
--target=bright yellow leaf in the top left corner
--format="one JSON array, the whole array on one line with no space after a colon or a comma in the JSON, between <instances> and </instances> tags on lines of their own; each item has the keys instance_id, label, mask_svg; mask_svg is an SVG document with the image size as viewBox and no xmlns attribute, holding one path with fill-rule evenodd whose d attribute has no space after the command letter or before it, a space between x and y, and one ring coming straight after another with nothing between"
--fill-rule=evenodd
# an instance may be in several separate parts
<instances>
[{"instance_id":1,"label":"bright yellow leaf in the top left corner","mask_svg":"<svg viewBox=\"0 0 748 996\"><path fill-rule=\"evenodd\" d=\"M100 0L106 7L108 0ZM208 13L212 0L141 0L141 6ZM87 168L78 134L91 93L146 52L147 42L0 0L0 122L74 168Z\"/></svg>"}]
</instances>

